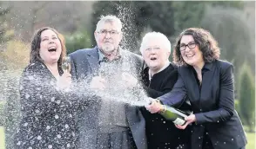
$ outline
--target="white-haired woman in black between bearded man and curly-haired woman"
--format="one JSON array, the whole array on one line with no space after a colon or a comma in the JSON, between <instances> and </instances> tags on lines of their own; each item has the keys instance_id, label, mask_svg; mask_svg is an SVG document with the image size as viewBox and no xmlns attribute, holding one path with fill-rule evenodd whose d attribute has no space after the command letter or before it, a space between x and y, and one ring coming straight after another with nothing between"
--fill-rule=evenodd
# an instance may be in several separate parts
<instances>
[{"instance_id":1,"label":"white-haired woman in black between bearded man and curly-haired woman","mask_svg":"<svg viewBox=\"0 0 256 149\"><path fill-rule=\"evenodd\" d=\"M170 92L178 79L177 67L169 62L171 42L162 33L150 32L143 37L140 52L147 65L141 76L148 96L156 99ZM190 133L187 130L179 130L159 113L149 113L145 108L141 111L145 117L149 149L189 147Z\"/></svg>"}]
</instances>

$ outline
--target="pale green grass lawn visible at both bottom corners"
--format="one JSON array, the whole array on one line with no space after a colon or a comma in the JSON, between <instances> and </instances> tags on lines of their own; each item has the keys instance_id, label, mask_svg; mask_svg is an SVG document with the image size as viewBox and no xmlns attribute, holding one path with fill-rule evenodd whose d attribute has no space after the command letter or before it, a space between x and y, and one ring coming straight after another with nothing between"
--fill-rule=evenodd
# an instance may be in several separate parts
<instances>
[{"instance_id":1,"label":"pale green grass lawn visible at both bottom corners","mask_svg":"<svg viewBox=\"0 0 256 149\"><path fill-rule=\"evenodd\" d=\"M255 149L255 133L246 133L248 144L246 149ZM0 149L4 149L4 129L0 126Z\"/></svg>"}]
</instances>

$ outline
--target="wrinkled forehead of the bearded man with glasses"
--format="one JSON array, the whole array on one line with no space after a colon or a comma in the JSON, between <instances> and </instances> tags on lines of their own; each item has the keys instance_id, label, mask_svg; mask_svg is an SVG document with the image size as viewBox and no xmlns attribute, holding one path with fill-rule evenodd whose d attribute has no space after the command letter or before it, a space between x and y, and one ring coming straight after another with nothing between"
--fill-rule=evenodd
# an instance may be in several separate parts
<instances>
[{"instance_id":1,"label":"wrinkled forehead of the bearded man with glasses","mask_svg":"<svg viewBox=\"0 0 256 149\"><path fill-rule=\"evenodd\" d=\"M117 31L121 31L122 29L122 26L121 24L117 23L117 22L114 22L114 21L106 21L106 22L101 22L101 23L98 23L98 26L97 26L97 31L99 30L117 30Z\"/></svg>"}]
</instances>

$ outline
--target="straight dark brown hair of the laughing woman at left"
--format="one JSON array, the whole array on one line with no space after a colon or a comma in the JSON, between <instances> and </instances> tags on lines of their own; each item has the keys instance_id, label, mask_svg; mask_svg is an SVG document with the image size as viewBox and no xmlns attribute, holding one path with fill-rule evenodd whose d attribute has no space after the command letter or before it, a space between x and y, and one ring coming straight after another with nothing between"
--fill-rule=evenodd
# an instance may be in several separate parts
<instances>
[{"instance_id":1,"label":"straight dark brown hair of the laughing woman at left","mask_svg":"<svg viewBox=\"0 0 256 149\"><path fill-rule=\"evenodd\" d=\"M43 27L41 29L38 29L31 42L31 49L30 49L30 63L40 61L43 62L42 58L39 55L39 49L40 49L40 43L41 43L41 34L44 30L51 29L53 32L57 34L57 38L59 39L62 47L62 51L60 54L60 57L57 61L57 65L61 66L63 57L66 55L66 47L65 47L65 42L64 42L64 36L62 36L60 33L57 32L56 29L52 29L50 27Z\"/></svg>"}]
</instances>

